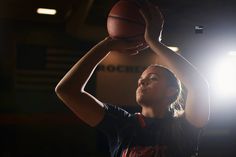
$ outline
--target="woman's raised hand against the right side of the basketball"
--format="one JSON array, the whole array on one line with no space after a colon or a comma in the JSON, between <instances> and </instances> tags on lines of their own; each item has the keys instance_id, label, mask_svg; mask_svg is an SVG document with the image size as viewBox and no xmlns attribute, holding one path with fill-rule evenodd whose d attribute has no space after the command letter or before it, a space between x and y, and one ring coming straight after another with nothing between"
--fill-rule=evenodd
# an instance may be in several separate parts
<instances>
[{"instance_id":1,"label":"woman's raised hand against the right side of the basketball","mask_svg":"<svg viewBox=\"0 0 236 157\"><path fill-rule=\"evenodd\" d=\"M148 0L137 0L140 3L140 13L146 23L144 38L146 42L160 41L164 19L159 8L151 4Z\"/></svg>"}]
</instances>

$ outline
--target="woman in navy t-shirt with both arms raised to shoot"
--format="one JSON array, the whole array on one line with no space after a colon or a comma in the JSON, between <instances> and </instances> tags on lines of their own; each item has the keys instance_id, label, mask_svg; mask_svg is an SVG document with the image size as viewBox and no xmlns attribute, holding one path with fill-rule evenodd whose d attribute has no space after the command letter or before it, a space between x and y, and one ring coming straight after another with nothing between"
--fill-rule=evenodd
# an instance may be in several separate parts
<instances>
[{"instance_id":1,"label":"woman in navy t-shirt with both arms raised to shoot","mask_svg":"<svg viewBox=\"0 0 236 157\"><path fill-rule=\"evenodd\" d=\"M145 40L164 61L162 66L149 66L138 81L136 100L142 112L130 114L84 91L96 66L111 51L133 53L131 49L141 46L134 42L105 38L69 70L56 93L81 120L107 135L111 156L192 156L199 130L209 118L208 84L185 58L159 41L163 27L159 10L148 1L142 6ZM182 114L174 105L181 92L177 78L188 92Z\"/></svg>"}]
</instances>

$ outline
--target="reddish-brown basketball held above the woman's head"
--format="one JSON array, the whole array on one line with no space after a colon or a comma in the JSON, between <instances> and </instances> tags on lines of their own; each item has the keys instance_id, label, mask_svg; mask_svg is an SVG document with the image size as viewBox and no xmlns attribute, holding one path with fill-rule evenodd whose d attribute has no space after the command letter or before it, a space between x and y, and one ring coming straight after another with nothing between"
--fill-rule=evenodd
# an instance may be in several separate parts
<instances>
[{"instance_id":1,"label":"reddish-brown basketball held above the woman's head","mask_svg":"<svg viewBox=\"0 0 236 157\"><path fill-rule=\"evenodd\" d=\"M139 12L139 4L135 0L120 0L110 10L107 18L107 31L113 39L125 39L143 43L145 21Z\"/></svg>"}]
</instances>

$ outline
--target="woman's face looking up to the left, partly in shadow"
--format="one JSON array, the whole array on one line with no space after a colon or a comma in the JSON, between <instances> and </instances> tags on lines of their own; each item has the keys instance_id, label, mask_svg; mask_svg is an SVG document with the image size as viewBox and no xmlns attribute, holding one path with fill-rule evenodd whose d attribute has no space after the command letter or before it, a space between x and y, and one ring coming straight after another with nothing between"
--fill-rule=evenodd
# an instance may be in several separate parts
<instances>
[{"instance_id":1,"label":"woman's face looking up to the left, partly in shadow","mask_svg":"<svg viewBox=\"0 0 236 157\"><path fill-rule=\"evenodd\" d=\"M141 106L161 103L166 99L167 81L163 69L150 66L140 76L136 90L136 101Z\"/></svg>"}]
</instances>

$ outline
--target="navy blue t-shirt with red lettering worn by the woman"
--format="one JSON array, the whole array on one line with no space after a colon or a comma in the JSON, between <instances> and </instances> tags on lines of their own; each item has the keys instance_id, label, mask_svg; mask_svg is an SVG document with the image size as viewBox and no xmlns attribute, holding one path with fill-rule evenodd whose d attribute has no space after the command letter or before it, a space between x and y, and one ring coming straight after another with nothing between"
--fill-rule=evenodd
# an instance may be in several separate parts
<instances>
[{"instance_id":1,"label":"navy blue t-shirt with red lettering worn by the woman","mask_svg":"<svg viewBox=\"0 0 236 157\"><path fill-rule=\"evenodd\" d=\"M108 104L97 125L108 138L112 157L192 157L200 129L184 116L147 118Z\"/></svg>"}]
</instances>

